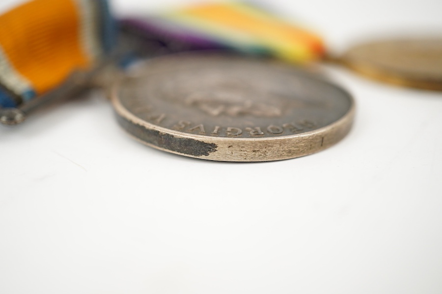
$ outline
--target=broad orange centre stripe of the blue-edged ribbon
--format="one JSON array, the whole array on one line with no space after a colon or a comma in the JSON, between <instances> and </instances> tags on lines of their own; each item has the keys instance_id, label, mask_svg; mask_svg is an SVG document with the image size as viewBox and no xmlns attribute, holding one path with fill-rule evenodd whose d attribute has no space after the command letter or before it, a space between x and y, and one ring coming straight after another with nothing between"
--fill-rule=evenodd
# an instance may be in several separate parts
<instances>
[{"instance_id":1,"label":"broad orange centre stripe of the blue-edged ribbon","mask_svg":"<svg viewBox=\"0 0 442 294\"><path fill-rule=\"evenodd\" d=\"M79 13L73 0L34 0L0 16L0 46L37 95L73 69L91 65L81 44Z\"/></svg>"}]
</instances>

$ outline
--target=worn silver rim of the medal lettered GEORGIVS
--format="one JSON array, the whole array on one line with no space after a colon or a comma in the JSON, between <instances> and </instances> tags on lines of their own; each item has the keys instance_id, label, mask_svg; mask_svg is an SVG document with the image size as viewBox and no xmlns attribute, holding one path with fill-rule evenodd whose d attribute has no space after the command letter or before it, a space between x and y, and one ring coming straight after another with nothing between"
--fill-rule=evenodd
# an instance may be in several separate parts
<instances>
[{"instance_id":1,"label":"worn silver rim of the medal lettered GEORGIVS","mask_svg":"<svg viewBox=\"0 0 442 294\"><path fill-rule=\"evenodd\" d=\"M204 136L204 135L198 135L198 134L190 134L185 132L180 132L172 129L168 129L153 123L149 123L147 121L144 121L140 118L138 118L136 115L131 113L128 109L126 109L121 102L119 101L117 97L117 86L114 86L111 91L111 101L112 106L114 108L115 114L123 119L126 120L128 123L141 127L144 127L147 130L153 130L158 131L163 134L172 135L173 137L177 139L193 139L199 142L203 142L206 144L215 144L218 147L222 148L229 148L229 146L232 146L234 148L232 152L236 152L236 154L231 153L230 155L226 152L212 152L209 154L209 156L204 155L191 155L186 154L179 151L174 151L167 149L162 146L158 146L149 142L144 141L143 139L139 138L138 136L134 135L133 133L128 130L127 127L124 127L120 124L122 128L125 129L126 133L128 133L131 137L135 138L137 141L141 142L142 144L145 144L149 147L154 147L159 150L163 150L166 152L179 154L183 156L198 158L198 159L207 159L207 160L214 160L214 161L232 161L232 162L263 162L263 161L275 161L275 160L284 160L284 159L290 159L290 158L296 158L301 157L309 154L313 154L319 151L322 151L328 147L333 146L334 144L341 141L350 131L353 122L354 117L356 113L356 105L354 102L354 98L349 96L350 98L350 107L348 111L337 121L330 123L326 126L323 126L321 128L318 128L316 130L300 133L300 134L293 134L293 135L286 135L286 136L279 136L279 137L267 137L267 138L236 138L236 137L212 137L212 136ZM326 144L322 144L319 147L311 148L311 145L315 143L315 141L318 141L319 138L325 138L326 136L329 136L331 138L328 139L328 142ZM323 139L321 139L323 140ZM317 142L316 142L317 143ZM298 151L292 151L290 150L279 150L278 148L282 147L284 144L290 144L290 145L298 145L301 146L300 150ZM242 145L256 145L253 146L247 146L248 148L251 147L251 150L248 148L241 148L246 147ZM264 149L267 149L269 145L271 145L269 149L272 149L273 154L266 154L263 156L263 153L260 152L259 154L256 154L257 156L250 156L248 153L257 150L257 147L264 146ZM316 144L317 145L317 144ZM307 148L307 146L310 146L310 148ZM304 147L304 148L303 148ZM220 150L216 150L220 151ZM225 150L224 150L225 151ZM267 152L264 152L264 154Z\"/></svg>"}]
</instances>

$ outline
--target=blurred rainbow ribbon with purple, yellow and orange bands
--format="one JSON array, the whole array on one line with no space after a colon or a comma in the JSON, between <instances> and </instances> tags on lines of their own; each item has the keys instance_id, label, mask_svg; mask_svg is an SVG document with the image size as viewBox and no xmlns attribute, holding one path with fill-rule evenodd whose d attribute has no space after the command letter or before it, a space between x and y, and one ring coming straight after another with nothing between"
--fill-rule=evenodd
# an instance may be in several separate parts
<instances>
[{"instance_id":1,"label":"blurred rainbow ribbon with purple, yellow and orange bands","mask_svg":"<svg viewBox=\"0 0 442 294\"><path fill-rule=\"evenodd\" d=\"M122 21L151 38L188 49L233 49L294 63L322 58L322 38L302 25L245 2L196 4Z\"/></svg>"}]
</instances>

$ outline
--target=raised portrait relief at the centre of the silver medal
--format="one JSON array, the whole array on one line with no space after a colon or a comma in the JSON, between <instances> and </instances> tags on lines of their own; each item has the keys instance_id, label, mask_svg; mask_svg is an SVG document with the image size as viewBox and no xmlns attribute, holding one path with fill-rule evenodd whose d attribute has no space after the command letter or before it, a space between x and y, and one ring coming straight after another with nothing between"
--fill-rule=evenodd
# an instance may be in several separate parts
<instances>
[{"instance_id":1,"label":"raised portrait relief at the centre of the silver medal","mask_svg":"<svg viewBox=\"0 0 442 294\"><path fill-rule=\"evenodd\" d=\"M258 87L238 73L196 71L192 75L179 73L161 90L173 103L199 109L210 116L280 117L288 105L276 93L262 87L265 84Z\"/></svg>"}]
</instances>

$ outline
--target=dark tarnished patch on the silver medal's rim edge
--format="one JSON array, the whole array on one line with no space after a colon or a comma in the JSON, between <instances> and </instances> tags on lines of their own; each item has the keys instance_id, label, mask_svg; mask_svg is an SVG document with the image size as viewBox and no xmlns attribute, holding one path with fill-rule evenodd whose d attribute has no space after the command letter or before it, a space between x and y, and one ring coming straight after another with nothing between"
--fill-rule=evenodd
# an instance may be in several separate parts
<instances>
[{"instance_id":1,"label":"dark tarnished patch on the silver medal's rim edge","mask_svg":"<svg viewBox=\"0 0 442 294\"><path fill-rule=\"evenodd\" d=\"M210 153L217 151L218 146L214 143L206 143L191 138L177 138L173 135L133 123L118 114L116 114L116 117L118 123L124 129L147 144L195 157L208 156Z\"/></svg>"}]
</instances>

